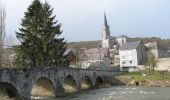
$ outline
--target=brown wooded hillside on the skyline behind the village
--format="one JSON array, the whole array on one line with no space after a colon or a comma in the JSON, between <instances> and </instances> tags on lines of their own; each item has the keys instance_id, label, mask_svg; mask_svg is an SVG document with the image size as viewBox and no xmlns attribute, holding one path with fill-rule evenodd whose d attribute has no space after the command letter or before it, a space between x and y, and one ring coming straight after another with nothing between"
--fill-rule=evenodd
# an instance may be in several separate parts
<instances>
[{"instance_id":1,"label":"brown wooded hillside on the skyline behind the village","mask_svg":"<svg viewBox=\"0 0 170 100\"><path fill-rule=\"evenodd\" d=\"M128 38L128 42L134 42L134 41L140 41L142 40L144 43L147 42L154 42L157 41L160 45L166 46L170 48L170 39L161 39L157 37L151 37L151 38ZM80 41L80 42L70 42L68 43L68 48L96 48L101 43L101 40L96 41Z\"/></svg>"}]
</instances>

